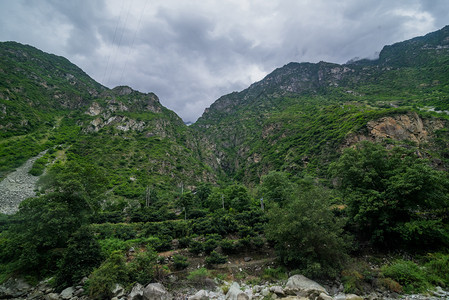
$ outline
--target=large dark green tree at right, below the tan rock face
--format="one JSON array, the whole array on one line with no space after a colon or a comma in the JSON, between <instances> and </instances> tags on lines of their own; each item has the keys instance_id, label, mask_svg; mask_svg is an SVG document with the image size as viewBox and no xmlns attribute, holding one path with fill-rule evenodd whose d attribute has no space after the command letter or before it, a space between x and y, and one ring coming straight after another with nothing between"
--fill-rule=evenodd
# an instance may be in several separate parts
<instances>
[{"instance_id":1,"label":"large dark green tree at right, below the tan rock face","mask_svg":"<svg viewBox=\"0 0 449 300\"><path fill-rule=\"evenodd\" d=\"M392 247L448 243L444 214L449 180L412 150L361 143L331 164L352 230Z\"/></svg>"}]
</instances>

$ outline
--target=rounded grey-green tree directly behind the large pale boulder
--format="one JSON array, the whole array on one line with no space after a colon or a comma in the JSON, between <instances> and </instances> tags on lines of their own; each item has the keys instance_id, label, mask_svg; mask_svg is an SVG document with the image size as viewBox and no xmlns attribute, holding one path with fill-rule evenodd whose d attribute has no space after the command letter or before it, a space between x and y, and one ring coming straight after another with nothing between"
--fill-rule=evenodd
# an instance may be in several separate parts
<instances>
[{"instance_id":1,"label":"rounded grey-green tree directly behind the large pale boulder","mask_svg":"<svg viewBox=\"0 0 449 300\"><path fill-rule=\"evenodd\" d=\"M330 193L315 187L292 198L268 212L267 238L286 265L310 276L336 276L350 243L343 238L344 220L331 210Z\"/></svg>"}]
</instances>

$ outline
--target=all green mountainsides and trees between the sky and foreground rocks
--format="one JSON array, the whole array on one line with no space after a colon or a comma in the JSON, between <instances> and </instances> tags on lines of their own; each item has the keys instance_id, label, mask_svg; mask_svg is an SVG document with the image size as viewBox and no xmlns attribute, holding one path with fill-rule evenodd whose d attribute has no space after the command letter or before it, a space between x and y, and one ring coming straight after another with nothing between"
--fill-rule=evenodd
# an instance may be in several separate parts
<instances>
[{"instance_id":1,"label":"all green mountainsides and trees between the sky and foreground rocks","mask_svg":"<svg viewBox=\"0 0 449 300\"><path fill-rule=\"evenodd\" d=\"M0 282L82 280L94 299L292 274L447 288L448 103L449 26L377 60L289 63L191 126L153 93L0 43L0 179L42 153L36 197L0 215Z\"/></svg>"}]
</instances>

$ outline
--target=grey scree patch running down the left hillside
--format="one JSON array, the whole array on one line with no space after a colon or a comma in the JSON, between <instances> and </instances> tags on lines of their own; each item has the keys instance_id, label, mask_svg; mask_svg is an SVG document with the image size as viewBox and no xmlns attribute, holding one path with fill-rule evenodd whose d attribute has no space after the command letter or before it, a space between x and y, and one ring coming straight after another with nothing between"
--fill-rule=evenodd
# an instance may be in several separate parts
<instances>
[{"instance_id":1,"label":"grey scree patch running down the left hillside","mask_svg":"<svg viewBox=\"0 0 449 300\"><path fill-rule=\"evenodd\" d=\"M35 187L38 176L28 172L31 170L36 159L45 154L30 158L25 164L10 173L0 182L0 213L13 214L19 210L19 204L23 200L36 196Z\"/></svg>"}]
</instances>

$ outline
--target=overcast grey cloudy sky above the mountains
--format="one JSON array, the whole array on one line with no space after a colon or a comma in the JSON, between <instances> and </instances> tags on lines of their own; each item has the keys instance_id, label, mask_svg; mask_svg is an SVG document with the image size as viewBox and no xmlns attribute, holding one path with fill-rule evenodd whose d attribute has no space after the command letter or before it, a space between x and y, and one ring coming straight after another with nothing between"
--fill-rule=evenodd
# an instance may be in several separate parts
<instances>
[{"instance_id":1,"label":"overcast grey cloudy sky above the mountains","mask_svg":"<svg viewBox=\"0 0 449 300\"><path fill-rule=\"evenodd\" d=\"M449 24L447 0L0 0L0 41L62 55L184 121L291 61L374 58Z\"/></svg>"}]
</instances>

